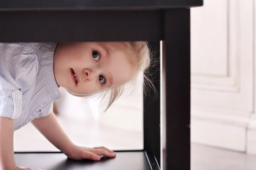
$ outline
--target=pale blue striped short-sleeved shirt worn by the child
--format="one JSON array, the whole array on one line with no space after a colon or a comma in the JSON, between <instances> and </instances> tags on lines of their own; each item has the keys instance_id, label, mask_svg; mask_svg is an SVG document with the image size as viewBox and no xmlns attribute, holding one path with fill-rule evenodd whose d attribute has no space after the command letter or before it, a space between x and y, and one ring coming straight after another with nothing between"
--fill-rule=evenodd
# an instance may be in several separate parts
<instances>
[{"instance_id":1,"label":"pale blue striped short-sleeved shirt worn by the child","mask_svg":"<svg viewBox=\"0 0 256 170\"><path fill-rule=\"evenodd\" d=\"M56 43L0 43L0 116L15 130L49 115L61 97L53 73Z\"/></svg>"}]
</instances>

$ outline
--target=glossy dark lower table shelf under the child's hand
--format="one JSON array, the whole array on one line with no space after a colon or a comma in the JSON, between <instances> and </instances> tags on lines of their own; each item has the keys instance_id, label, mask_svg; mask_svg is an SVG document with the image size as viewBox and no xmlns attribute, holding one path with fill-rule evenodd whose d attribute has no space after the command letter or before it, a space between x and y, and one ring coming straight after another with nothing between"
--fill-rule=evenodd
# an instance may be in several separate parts
<instances>
[{"instance_id":1,"label":"glossy dark lower table shelf under the child's hand","mask_svg":"<svg viewBox=\"0 0 256 170\"><path fill-rule=\"evenodd\" d=\"M15 153L15 160L17 166L32 170L160 170L153 157L145 151L115 152L115 158L103 156L100 161L75 161L60 152Z\"/></svg>"}]
</instances>

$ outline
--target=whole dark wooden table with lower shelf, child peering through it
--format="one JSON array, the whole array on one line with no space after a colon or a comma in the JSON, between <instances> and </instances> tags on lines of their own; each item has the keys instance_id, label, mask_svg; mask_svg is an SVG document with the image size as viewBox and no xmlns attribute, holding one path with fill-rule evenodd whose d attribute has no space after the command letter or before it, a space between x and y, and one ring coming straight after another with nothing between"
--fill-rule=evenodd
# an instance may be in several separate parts
<instances>
[{"instance_id":1,"label":"whole dark wooden table with lower shelf, child peering through it","mask_svg":"<svg viewBox=\"0 0 256 170\"><path fill-rule=\"evenodd\" d=\"M156 59L162 52L162 79L160 63L150 70L160 97L153 100L151 91L144 99L143 151L118 152L99 162L67 160L62 153L15 153L17 165L189 170L190 8L202 5L203 0L1 0L0 42L149 41L158 50Z\"/></svg>"}]
</instances>

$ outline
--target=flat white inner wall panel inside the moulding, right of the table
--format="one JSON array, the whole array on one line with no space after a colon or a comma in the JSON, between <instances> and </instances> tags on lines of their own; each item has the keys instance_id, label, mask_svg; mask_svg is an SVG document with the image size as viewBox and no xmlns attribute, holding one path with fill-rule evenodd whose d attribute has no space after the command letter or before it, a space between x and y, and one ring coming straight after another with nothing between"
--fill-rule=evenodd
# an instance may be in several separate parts
<instances>
[{"instance_id":1,"label":"flat white inner wall panel inside the moulding, right of the table","mask_svg":"<svg viewBox=\"0 0 256 170\"><path fill-rule=\"evenodd\" d=\"M227 76L227 0L204 0L204 6L191 9L192 74Z\"/></svg>"}]
</instances>

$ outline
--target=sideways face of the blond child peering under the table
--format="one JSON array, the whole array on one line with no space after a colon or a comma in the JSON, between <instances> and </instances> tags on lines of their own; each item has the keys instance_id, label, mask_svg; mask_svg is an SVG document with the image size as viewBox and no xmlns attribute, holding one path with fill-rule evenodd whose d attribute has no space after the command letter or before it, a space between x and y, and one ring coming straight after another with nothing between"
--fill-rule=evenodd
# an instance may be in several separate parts
<instances>
[{"instance_id":1,"label":"sideways face of the blond child peering under the table","mask_svg":"<svg viewBox=\"0 0 256 170\"><path fill-rule=\"evenodd\" d=\"M131 61L120 42L59 43L53 65L58 85L77 95L88 95L128 82Z\"/></svg>"}]
</instances>

